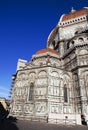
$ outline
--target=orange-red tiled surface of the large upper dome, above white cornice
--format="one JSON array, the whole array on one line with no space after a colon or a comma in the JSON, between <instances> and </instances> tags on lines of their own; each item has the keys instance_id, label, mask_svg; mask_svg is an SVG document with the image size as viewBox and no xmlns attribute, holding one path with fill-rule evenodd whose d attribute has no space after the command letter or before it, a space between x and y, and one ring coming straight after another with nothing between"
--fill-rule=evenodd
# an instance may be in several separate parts
<instances>
[{"instance_id":1,"label":"orange-red tiled surface of the large upper dome, above white cornice","mask_svg":"<svg viewBox=\"0 0 88 130\"><path fill-rule=\"evenodd\" d=\"M83 15L88 15L88 8L82 8L79 11L75 11L75 12L71 12L69 14L65 14L63 15L61 22L70 20L70 19L74 19Z\"/></svg>"}]
</instances>

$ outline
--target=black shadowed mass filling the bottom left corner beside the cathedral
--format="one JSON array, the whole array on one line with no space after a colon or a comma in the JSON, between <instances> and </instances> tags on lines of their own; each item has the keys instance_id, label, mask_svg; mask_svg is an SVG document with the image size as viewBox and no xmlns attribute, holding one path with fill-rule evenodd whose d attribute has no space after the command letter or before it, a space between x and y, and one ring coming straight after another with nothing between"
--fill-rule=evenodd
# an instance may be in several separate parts
<instances>
[{"instance_id":1,"label":"black shadowed mass filling the bottom left corner beside the cathedral","mask_svg":"<svg viewBox=\"0 0 88 130\"><path fill-rule=\"evenodd\" d=\"M16 126L17 119L9 116L8 110L5 110L0 102L0 130L19 130Z\"/></svg>"}]
</instances>

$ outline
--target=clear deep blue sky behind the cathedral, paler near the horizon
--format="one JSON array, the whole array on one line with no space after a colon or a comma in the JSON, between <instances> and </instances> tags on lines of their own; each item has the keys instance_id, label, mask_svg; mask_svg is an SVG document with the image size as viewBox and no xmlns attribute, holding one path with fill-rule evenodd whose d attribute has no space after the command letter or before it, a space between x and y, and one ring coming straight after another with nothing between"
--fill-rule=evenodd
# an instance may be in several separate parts
<instances>
[{"instance_id":1,"label":"clear deep blue sky behind the cathedral, paler near the horizon","mask_svg":"<svg viewBox=\"0 0 88 130\"><path fill-rule=\"evenodd\" d=\"M79 10L88 0L0 1L0 97L8 97L19 58L29 61L46 47L51 30L71 7Z\"/></svg>"}]
</instances>

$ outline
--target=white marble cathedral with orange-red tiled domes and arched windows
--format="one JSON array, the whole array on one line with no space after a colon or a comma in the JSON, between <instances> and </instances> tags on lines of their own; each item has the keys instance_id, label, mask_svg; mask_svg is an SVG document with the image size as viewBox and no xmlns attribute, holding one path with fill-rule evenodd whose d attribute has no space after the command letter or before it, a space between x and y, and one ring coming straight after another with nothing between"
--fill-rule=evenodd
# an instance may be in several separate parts
<instances>
[{"instance_id":1,"label":"white marble cathedral with orange-red tiled domes and arched windows","mask_svg":"<svg viewBox=\"0 0 88 130\"><path fill-rule=\"evenodd\" d=\"M88 121L88 7L61 16L47 47L18 60L10 114L18 119Z\"/></svg>"}]
</instances>

